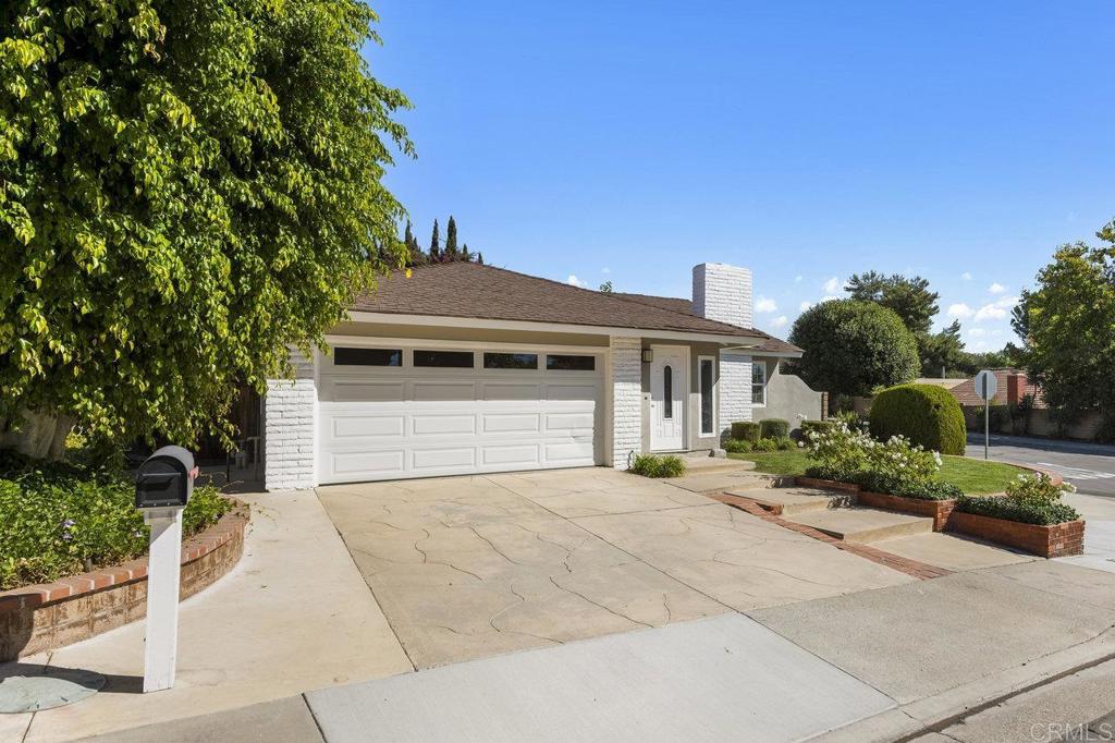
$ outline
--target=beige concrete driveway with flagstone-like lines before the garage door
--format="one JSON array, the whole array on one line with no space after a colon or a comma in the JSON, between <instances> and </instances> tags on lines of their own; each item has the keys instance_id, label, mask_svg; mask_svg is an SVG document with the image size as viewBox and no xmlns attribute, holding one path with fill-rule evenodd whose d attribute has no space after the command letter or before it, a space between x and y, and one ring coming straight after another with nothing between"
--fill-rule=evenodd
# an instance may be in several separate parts
<instances>
[{"instance_id":1,"label":"beige concrete driveway with flagstone-like lines before the garage door","mask_svg":"<svg viewBox=\"0 0 1115 743\"><path fill-rule=\"evenodd\" d=\"M318 496L416 667L911 580L602 467Z\"/></svg>"}]
</instances>

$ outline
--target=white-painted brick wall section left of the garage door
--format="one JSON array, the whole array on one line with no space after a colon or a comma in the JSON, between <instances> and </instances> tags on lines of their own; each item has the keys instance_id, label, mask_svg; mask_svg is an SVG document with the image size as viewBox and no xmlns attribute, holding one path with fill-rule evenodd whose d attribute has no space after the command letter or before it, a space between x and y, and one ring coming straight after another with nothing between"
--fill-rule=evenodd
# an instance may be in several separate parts
<instances>
[{"instance_id":1,"label":"white-painted brick wall section left of the garage door","mask_svg":"<svg viewBox=\"0 0 1115 743\"><path fill-rule=\"evenodd\" d=\"M266 490L313 488L314 416L318 389L313 361L291 351L293 379L268 379L264 399L264 467Z\"/></svg>"}]
</instances>

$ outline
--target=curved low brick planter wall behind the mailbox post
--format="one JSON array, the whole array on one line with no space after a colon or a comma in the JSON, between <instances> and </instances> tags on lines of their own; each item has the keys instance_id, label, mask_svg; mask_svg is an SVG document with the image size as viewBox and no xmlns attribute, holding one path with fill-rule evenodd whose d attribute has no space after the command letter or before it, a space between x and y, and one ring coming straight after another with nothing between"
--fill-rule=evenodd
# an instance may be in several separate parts
<instances>
[{"instance_id":1,"label":"curved low brick planter wall behind the mailbox post","mask_svg":"<svg viewBox=\"0 0 1115 743\"><path fill-rule=\"evenodd\" d=\"M239 501L182 544L180 599L216 582L244 551L248 506ZM0 592L0 662L54 650L147 614L147 558Z\"/></svg>"}]
</instances>

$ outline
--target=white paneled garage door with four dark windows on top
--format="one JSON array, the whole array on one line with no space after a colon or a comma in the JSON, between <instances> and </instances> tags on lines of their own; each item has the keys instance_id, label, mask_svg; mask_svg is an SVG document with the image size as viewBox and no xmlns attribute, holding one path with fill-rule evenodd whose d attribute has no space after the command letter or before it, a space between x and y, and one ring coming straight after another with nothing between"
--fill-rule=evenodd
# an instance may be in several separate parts
<instances>
[{"instance_id":1,"label":"white paneled garage door with four dark windows on top","mask_svg":"<svg viewBox=\"0 0 1115 743\"><path fill-rule=\"evenodd\" d=\"M318 379L318 480L599 464L599 354L337 346Z\"/></svg>"}]
</instances>

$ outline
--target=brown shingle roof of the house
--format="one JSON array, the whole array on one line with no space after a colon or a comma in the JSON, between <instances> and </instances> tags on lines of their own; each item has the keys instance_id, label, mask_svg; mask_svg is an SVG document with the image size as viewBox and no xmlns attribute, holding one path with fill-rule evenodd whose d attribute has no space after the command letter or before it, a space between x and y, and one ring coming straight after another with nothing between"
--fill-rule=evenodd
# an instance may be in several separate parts
<instances>
[{"instance_id":1,"label":"brown shingle roof of the house","mask_svg":"<svg viewBox=\"0 0 1115 743\"><path fill-rule=\"evenodd\" d=\"M725 336L726 342L730 338L740 337L757 338L764 344L776 340L762 330L706 320L690 311L658 307L629 296L591 291L506 269L466 262L415 268L409 279L403 271L392 271L380 280L372 295L357 298L352 309L392 315L697 332ZM789 344L777 342L782 344L784 350L797 350Z\"/></svg>"}]
</instances>

